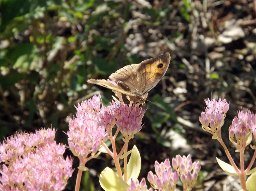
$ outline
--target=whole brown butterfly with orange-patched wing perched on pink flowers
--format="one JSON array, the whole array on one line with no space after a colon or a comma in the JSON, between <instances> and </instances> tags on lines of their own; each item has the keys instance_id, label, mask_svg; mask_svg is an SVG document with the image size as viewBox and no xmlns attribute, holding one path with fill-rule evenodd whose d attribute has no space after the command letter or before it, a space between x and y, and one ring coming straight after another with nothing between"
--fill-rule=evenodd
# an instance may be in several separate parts
<instances>
[{"instance_id":1,"label":"whole brown butterfly with orange-patched wing perched on pink flowers","mask_svg":"<svg viewBox=\"0 0 256 191\"><path fill-rule=\"evenodd\" d=\"M170 54L131 64L109 76L109 80L90 79L87 82L126 94L130 101L143 104L147 94L165 75L171 61ZM112 83L112 82L113 83Z\"/></svg>"}]
</instances>

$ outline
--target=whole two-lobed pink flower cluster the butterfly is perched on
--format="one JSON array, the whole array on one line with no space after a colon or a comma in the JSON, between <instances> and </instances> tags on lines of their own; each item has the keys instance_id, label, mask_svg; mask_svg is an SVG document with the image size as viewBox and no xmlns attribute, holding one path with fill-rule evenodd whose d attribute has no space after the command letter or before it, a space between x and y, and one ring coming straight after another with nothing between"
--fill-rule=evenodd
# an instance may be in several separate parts
<instances>
[{"instance_id":1,"label":"whole two-lobed pink flower cluster the butterfly is perched on","mask_svg":"<svg viewBox=\"0 0 256 191\"><path fill-rule=\"evenodd\" d=\"M101 105L100 95L94 95L78 104L76 117L69 120L69 148L81 163L85 163L108 139L115 124L126 140L133 138L141 129L143 115L143 109L128 107L118 101L105 107Z\"/></svg>"}]
</instances>

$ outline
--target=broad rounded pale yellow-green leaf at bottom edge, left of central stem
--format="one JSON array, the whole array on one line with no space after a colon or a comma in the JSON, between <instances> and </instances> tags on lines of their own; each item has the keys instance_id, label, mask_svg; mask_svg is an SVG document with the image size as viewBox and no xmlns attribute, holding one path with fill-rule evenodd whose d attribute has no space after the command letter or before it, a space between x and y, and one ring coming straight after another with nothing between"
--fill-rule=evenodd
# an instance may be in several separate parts
<instances>
[{"instance_id":1,"label":"broad rounded pale yellow-green leaf at bottom edge, left of central stem","mask_svg":"<svg viewBox=\"0 0 256 191\"><path fill-rule=\"evenodd\" d=\"M100 173L100 186L105 191L127 191L129 188L129 185L109 167Z\"/></svg>"}]
</instances>

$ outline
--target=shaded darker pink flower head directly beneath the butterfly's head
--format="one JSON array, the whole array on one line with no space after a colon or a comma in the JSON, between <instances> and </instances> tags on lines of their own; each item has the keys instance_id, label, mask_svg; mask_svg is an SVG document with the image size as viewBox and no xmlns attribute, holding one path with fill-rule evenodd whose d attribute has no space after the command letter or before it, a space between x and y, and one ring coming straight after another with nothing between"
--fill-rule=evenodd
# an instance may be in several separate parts
<instances>
[{"instance_id":1,"label":"shaded darker pink flower head directly beneath the butterfly's head","mask_svg":"<svg viewBox=\"0 0 256 191\"><path fill-rule=\"evenodd\" d=\"M141 107L129 107L127 104L120 105L115 117L116 125L120 128L120 132L125 140L132 139L134 134L141 130L144 109Z\"/></svg>"}]
</instances>

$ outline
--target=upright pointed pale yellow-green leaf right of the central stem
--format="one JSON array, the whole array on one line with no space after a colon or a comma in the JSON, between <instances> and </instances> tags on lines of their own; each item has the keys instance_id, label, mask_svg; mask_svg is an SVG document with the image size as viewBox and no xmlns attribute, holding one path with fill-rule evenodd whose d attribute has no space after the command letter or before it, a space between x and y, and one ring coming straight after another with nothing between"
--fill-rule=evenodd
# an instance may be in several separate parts
<instances>
[{"instance_id":1,"label":"upright pointed pale yellow-green leaf right of the central stem","mask_svg":"<svg viewBox=\"0 0 256 191\"><path fill-rule=\"evenodd\" d=\"M133 180L136 180L140 174L141 169L141 158L140 158L140 152L137 149L137 147L134 145L133 150L131 152L131 157L129 159L129 162L127 164L127 180L128 184L131 182L131 178Z\"/></svg>"}]
</instances>

